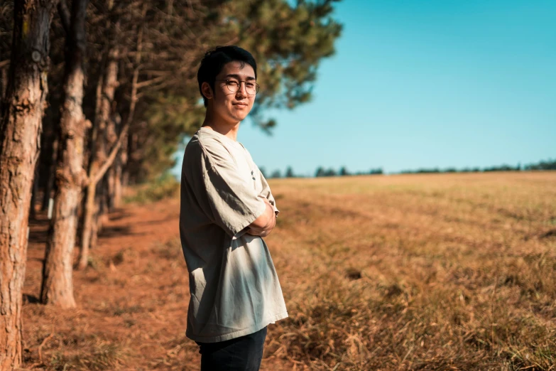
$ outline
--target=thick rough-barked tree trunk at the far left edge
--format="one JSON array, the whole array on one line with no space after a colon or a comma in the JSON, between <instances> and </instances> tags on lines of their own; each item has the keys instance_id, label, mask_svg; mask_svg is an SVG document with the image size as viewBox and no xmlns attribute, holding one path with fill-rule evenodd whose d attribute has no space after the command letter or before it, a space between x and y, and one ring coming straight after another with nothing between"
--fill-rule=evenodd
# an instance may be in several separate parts
<instances>
[{"instance_id":1,"label":"thick rough-barked tree trunk at the far left edge","mask_svg":"<svg viewBox=\"0 0 556 371\"><path fill-rule=\"evenodd\" d=\"M14 2L8 86L0 122L0 370L21 365L28 213L48 93L55 0Z\"/></svg>"}]
</instances>

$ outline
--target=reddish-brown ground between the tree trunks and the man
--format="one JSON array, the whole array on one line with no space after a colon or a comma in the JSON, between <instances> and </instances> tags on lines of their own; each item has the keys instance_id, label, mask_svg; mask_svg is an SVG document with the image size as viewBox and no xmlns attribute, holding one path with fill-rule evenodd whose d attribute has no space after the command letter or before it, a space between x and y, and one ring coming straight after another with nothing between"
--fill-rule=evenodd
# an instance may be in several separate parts
<instances>
[{"instance_id":1,"label":"reddish-brown ground between the tree trunks and the man","mask_svg":"<svg viewBox=\"0 0 556 371\"><path fill-rule=\"evenodd\" d=\"M23 289L25 367L199 369L197 345L185 338L189 288L178 206L178 200L166 200L113 213L89 267L75 271L77 308L67 311L38 303L48 230L48 220L39 215L31 224ZM291 367L267 358L262 369Z\"/></svg>"}]
</instances>

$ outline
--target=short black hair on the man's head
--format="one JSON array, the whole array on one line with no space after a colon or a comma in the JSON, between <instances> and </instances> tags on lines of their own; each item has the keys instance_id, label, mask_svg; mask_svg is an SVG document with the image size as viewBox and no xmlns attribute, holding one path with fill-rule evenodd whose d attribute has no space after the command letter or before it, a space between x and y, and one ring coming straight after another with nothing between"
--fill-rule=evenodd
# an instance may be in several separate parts
<instances>
[{"instance_id":1,"label":"short black hair on the man's head","mask_svg":"<svg viewBox=\"0 0 556 371\"><path fill-rule=\"evenodd\" d=\"M217 46L214 50L209 50L205 53L205 57L201 60L199 72L197 72L197 82L199 82L199 91L201 92L202 99L207 107L207 98L202 94L201 85L203 82L208 82L212 91L214 92L214 80L217 75L222 71L224 65L230 62L241 63L241 68L244 68L245 63L250 65L255 71L255 78L257 78L257 63L253 55L247 50L239 48L236 45Z\"/></svg>"}]
</instances>

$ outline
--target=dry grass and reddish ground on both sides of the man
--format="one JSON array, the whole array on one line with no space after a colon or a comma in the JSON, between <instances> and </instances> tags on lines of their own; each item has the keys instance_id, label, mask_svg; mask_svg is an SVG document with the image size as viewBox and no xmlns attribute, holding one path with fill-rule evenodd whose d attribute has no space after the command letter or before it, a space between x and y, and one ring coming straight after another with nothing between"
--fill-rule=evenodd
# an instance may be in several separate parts
<instances>
[{"instance_id":1,"label":"dry grass and reddish ground on both sides of the man","mask_svg":"<svg viewBox=\"0 0 556 371\"><path fill-rule=\"evenodd\" d=\"M290 318L269 326L262 370L556 370L556 172L271 187ZM36 303L46 225L32 226L26 367L198 370L178 203L111 215L72 311Z\"/></svg>"}]
</instances>

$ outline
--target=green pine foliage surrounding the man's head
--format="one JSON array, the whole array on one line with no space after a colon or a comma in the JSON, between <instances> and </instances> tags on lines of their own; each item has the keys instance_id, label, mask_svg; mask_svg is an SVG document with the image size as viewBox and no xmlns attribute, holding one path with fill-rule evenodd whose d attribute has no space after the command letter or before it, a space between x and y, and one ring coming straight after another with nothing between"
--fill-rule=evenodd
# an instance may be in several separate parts
<instances>
[{"instance_id":1,"label":"green pine foliage surrounding the man's head","mask_svg":"<svg viewBox=\"0 0 556 371\"><path fill-rule=\"evenodd\" d=\"M153 58L143 69L143 78L155 82L143 92L145 109L138 109L136 127L131 128L129 162L125 168L130 180L156 178L173 166L178 144L202 124L205 109L199 102L195 73L211 46L234 43L253 53L263 85L249 117L263 130L270 132L276 124L263 117L266 109L293 109L308 102L318 65L322 58L334 53L334 41L342 31L342 26L331 17L333 2L225 1L214 8L219 12L205 18L199 28L180 26L183 20L173 15L169 18L171 23L163 23L170 30L165 31L165 38L158 37L159 28L149 31L149 39L158 37L153 45L171 44L170 53L180 54L179 58L166 58L164 63ZM173 9L178 11L176 2ZM199 24L196 19L190 21ZM191 45L188 38L184 40L184 29L199 30L194 38L197 43ZM148 76L146 71L152 75ZM173 114L176 109L182 114Z\"/></svg>"}]
</instances>

